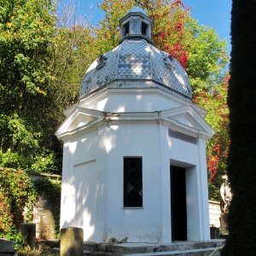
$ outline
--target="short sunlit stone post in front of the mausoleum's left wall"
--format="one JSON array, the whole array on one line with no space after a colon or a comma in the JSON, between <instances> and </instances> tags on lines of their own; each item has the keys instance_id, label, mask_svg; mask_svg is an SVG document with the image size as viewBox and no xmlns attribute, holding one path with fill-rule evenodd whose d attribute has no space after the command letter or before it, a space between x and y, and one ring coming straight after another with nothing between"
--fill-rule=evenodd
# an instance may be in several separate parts
<instances>
[{"instance_id":1,"label":"short sunlit stone post in front of the mausoleum's left wall","mask_svg":"<svg viewBox=\"0 0 256 256\"><path fill-rule=\"evenodd\" d=\"M61 256L82 256L84 230L76 227L61 229Z\"/></svg>"}]
</instances>

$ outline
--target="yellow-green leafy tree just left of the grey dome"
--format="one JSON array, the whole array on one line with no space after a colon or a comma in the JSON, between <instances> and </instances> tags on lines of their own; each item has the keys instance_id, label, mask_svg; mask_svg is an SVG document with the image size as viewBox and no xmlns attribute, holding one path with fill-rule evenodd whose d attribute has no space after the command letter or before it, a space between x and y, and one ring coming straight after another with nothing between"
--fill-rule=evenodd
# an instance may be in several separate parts
<instances>
[{"instance_id":1,"label":"yellow-green leafy tree just left of the grey dome","mask_svg":"<svg viewBox=\"0 0 256 256\"><path fill-rule=\"evenodd\" d=\"M52 48L50 71L53 76L51 94L55 98L55 118L63 121L61 113L77 102L79 88L90 63L99 54L90 27L80 24L59 27Z\"/></svg>"}]
</instances>

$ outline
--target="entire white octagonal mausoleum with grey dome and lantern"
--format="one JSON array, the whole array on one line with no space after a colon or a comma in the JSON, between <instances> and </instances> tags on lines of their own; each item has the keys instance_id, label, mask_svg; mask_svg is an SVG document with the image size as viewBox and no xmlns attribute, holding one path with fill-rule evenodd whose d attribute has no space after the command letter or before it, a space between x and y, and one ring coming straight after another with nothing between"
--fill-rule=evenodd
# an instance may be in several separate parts
<instances>
[{"instance_id":1,"label":"entire white octagonal mausoleum with grey dome and lantern","mask_svg":"<svg viewBox=\"0 0 256 256\"><path fill-rule=\"evenodd\" d=\"M206 111L191 102L183 67L153 46L145 10L120 26L119 46L90 65L56 131L61 228L95 242L209 240Z\"/></svg>"}]
</instances>

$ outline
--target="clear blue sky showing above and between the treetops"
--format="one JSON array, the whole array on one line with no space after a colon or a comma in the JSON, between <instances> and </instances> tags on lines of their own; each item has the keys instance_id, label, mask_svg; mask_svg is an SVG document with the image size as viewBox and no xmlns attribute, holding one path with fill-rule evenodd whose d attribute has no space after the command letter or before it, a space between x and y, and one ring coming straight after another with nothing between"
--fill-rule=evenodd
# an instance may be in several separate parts
<instances>
[{"instance_id":1,"label":"clear blue sky showing above and between the treetops","mask_svg":"<svg viewBox=\"0 0 256 256\"><path fill-rule=\"evenodd\" d=\"M91 21L97 24L104 12L97 8L97 3L102 0L73 0L79 6L77 11L91 17ZM199 21L199 24L211 26L218 33L220 39L226 39L230 52L230 11L231 0L183 0L185 6L191 8L191 15Z\"/></svg>"}]
</instances>

